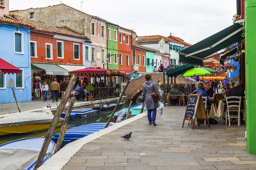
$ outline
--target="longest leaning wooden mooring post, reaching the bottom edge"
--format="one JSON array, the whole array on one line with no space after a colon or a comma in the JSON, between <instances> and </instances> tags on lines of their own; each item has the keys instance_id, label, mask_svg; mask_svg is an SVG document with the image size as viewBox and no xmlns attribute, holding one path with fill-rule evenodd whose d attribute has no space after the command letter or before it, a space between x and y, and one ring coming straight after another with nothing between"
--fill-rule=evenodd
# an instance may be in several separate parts
<instances>
[{"instance_id":1,"label":"longest leaning wooden mooring post, reaching the bottom edge","mask_svg":"<svg viewBox=\"0 0 256 170\"><path fill-rule=\"evenodd\" d=\"M58 109L55 113L55 116L52 119L52 123L51 123L51 125L48 129L47 135L44 139L44 143L43 143L42 149L39 153L38 160L36 161L34 170L38 169L38 167L40 167L43 163L45 153L48 149L49 143L50 143L52 135L53 135L53 131L55 130L55 127L56 127L56 125L57 125L57 123L58 123L58 121L61 117L61 113L63 112L63 110L65 108L65 105L67 104L67 101L69 99L71 91L73 90L74 85L76 84L76 80L77 80L77 75L72 74L70 82L68 83L67 90L66 90L66 93L64 95L64 98L61 100L61 103L60 103L60 105L59 105L59 107L58 107Z\"/></svg>"}]
</instances>

